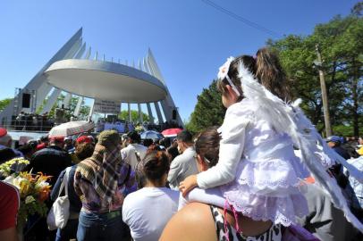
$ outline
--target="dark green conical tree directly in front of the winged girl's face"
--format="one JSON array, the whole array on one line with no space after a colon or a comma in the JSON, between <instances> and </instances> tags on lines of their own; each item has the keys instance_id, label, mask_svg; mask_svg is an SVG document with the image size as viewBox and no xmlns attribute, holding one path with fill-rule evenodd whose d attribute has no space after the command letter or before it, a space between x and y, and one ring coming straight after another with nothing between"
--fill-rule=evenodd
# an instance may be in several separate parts
<instances>
[{"instance_id":1,"label":"dark green conical tree directly in front of the winged girl's face","mask_svg":"<svg viewBox=\"0 0 363 241\"><path fill-rule=\"evenodd\" d=\"M216 80L208 88L204 88L197 98L197 104L190 115L190 121L186 124L186 129L196 134L208 127L222 125L225 108L221 93L216 88Z\"/></svg>"}]
</instances>

